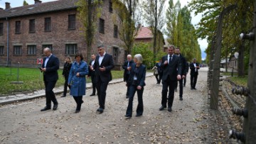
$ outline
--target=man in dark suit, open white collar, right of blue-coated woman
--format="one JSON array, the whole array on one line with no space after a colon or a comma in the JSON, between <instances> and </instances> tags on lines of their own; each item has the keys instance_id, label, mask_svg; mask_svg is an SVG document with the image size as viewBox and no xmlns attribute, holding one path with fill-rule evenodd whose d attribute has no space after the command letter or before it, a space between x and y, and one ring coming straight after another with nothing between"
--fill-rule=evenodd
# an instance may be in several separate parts
<instances>
[{"instance_id":1,"label":"man in dark suit, open white collar, right of blue-coated woman","mask_svg":"<svg viewBox=\"0 0 256 144\"><path fill-rule=\"evenodd\" d=\"M104 45L97 47L99 55L95 59L95 82L97 83L97 95L99 99L100 108L97 109L103 113L105 109L105 98L107 91L107 84L112 80L111 70L114 68L113 57L105 52Z\"/></svg>"}]
</instances>

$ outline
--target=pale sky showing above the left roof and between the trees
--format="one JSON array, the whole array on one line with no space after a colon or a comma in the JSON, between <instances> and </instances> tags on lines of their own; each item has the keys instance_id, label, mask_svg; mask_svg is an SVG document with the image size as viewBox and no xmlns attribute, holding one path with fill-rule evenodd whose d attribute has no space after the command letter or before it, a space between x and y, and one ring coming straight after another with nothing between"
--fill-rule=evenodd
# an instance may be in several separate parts
<instances>
[{"instance_id":1,"label":"pale sky showing above the left roof and between the trees","mask_svg":"<svg viewBox=\"0 0 256 144\"><path fill-rule=\"evenodd\" d=\"M42 2L48 2L48 1L55 1L55 0L41 0ZM176 4L176 1L177 0L174 0L174 4ZM191 1L191 0L180 0L181 2L181 7L185 6L185 5L188 5L188 2ZM14 8L14 7L18 7L18 6L23 6L23 0L0 0L0 7L5 9L5 3L6 2L9 2L11 4L11 7ZM26 2L28 4L34 4L35 1L34 0L26 0ZM166 5L168 4L168 0L166 0ZM168 7L168 6L167 6ZM166 7L166 8L167 8ZM201 16L194 16L193 13L191 14L191 17L192 17L192 23L193 25L195 26L201 19ZM198 43L200 45L200 48L201 48L201 51L202 51L202 59L205 59L206 58L206 53L204 52L208 46L208 43L207 41L204 39L204 40L201 40L201 39L198 39Z\"/></svg>"}]
</instances>

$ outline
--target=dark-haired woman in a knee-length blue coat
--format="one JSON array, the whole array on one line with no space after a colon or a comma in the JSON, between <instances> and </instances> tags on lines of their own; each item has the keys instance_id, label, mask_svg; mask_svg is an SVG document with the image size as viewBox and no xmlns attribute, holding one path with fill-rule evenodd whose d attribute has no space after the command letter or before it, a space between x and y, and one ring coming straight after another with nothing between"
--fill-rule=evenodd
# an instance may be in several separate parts
<instances>
[{"instance_id":1,"label":"dark-haired woman in a knee-length blue coat","mask_svg":"<svg viewBox=\"0 0 256 144\"><path fill-rule=\"evenodd\" d=\"M78 113L81 109L82 95L85 95L86 79L85 75L89 73L88 65L83 61L81 53L75 55L75 62L73 62L68 76L68 85L71 86L70 95L73 96L77 104L75 113Z\"/></svg>"}]
</instances>

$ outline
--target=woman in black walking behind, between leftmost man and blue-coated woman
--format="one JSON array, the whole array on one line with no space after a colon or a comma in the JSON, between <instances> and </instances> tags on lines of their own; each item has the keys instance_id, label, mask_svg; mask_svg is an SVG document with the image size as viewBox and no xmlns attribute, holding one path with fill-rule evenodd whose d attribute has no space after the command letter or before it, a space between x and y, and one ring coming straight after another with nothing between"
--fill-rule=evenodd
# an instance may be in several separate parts
<instances>
[{"instance_id":1,"label":"woman in black walking behind, between leftmost man and blue-coated woman","mask_svg":"<svg viewBox=\"0 0 256 144\"><path fill-rule=\"evenodd\" d=\"M63 92L63 96L60 96L60 97L65 97L67 94L68 88L70 89L70 85L68 85L68 75L69 75L71 66L72 66L72 59L70 56L67 56L65 58L65 64L63 67L63 77L65 78L64 92Z\"/></svg>"}]
</instances>

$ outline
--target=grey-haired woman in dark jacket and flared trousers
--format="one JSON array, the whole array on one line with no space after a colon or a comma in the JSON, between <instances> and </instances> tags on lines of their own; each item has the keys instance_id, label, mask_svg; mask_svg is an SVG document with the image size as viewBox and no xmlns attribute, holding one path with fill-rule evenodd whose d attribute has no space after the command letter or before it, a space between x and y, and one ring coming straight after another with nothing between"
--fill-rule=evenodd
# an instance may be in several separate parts
<instances>
[{"instance_id":1,"label":"grey-haired woman in dark jacket and flared trousers","mask_svg":"<svg viewBox=\"0 0 256 144\"><path fill-rule=\"evenodd\" d=\"M132 69L130 70L129 79L127 82L127 87L129 87L129 103L126 111L125 117L132 117L132 103L134 99L134 94L137 92L138 95L138 106L136 110L136 116L142 116L143 114L143 91L146 77L146 67L142 65L142 55L134 55L134 64L132 64Z\"/></svg>"}]
</instances>

